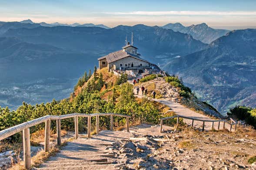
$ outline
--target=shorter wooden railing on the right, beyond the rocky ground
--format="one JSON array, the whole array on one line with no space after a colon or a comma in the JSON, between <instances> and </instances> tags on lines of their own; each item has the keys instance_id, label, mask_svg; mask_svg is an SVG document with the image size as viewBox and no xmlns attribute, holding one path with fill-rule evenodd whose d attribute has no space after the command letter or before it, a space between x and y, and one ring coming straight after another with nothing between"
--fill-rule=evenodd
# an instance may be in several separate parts
<instances>
[{"instance_id":1,"label":"shorter wooden railing on the right, beyond the rocky ground","mask_svg":"<svg viewBox=\"0 0 256 170\"><path fill-rule=\"evenodd\" d=\"M218 130L219 130L220 122L223 122L223 129L225 129L226 123L230 124L229 131L232 131L232 126L235 125L234 131L236 131L237 122L234 121L232 118L230 118L230 121L232 121L233 123L229 123L229 121L226 121L226 120L209 120L209 119L207 120L207 119L197 119L197 118L190 118L190 117L186 117L186 116L175 115L175 116L171 116L171 117L160 118L160 132L161 133L163 131L163 121L168 120L168 119L173 119L173 118L177 118L176 128L178 128L178 126L179 126L179 118L184 118L184 119L192 120L191 127L193 127L194 121L202 121L203 122L202 131L204 131L205 122L212 122L212 129L214 127L214 122L218 122Z\"/></svg>"}]
</instances>

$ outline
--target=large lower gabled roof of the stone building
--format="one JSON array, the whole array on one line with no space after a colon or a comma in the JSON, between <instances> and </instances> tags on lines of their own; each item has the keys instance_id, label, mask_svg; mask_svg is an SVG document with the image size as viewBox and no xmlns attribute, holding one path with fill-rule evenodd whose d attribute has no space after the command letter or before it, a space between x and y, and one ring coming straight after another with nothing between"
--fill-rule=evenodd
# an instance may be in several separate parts
<instances>
[{"instance_id":1,"label":"large lower gabled roof of the stone building","mask_svg":"<svg viewBox=\"0 0 256 170\"><path fill-rule=\"evenodd\" d=\"M129 57L129 56L130 56L130 57L133 57L133 58L135 58L135 59L139 59L139 60L144 61L144 62L148 62L148 61L146 61L146 60L144 60L144 59L141 59L139 56L137 56L137 55L135 55L135 54L132 54L132 53L130 53L130 52L125 52L125 51L123 51L123 49L121 49L121 50L119 50L119 51L116 51L116 52L111 52L111 53L109 53L109 54L106 55L106 56L103 56L103 57L98 58L98 60L106 59L106 61L107 61L108 63L110 63L110 62L114 62L114 61L116 61L116 60L123 59L123 58ZM150 63L150 62L148 62L148 63Z\"/></svg>"}]
</instances>

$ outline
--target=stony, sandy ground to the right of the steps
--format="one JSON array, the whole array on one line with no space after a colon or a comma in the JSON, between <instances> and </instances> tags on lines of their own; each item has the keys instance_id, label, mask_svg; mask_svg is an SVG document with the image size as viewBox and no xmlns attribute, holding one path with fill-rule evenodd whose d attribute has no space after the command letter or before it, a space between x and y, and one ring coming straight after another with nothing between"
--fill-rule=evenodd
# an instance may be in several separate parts
<instances>
[{"instance_id":1,"label":"stony, sandy ground to the right of the steps","mask_svg":"<svg viewBox=\"0 0 256 170\"><path fill-rule=\"evenodd\" d=\"M158 133L158 126L139 125L132 137L107 147L120 158L122 169L256 170L256 134L249 131L183 130Z\"/></svg>"}]
</instances>

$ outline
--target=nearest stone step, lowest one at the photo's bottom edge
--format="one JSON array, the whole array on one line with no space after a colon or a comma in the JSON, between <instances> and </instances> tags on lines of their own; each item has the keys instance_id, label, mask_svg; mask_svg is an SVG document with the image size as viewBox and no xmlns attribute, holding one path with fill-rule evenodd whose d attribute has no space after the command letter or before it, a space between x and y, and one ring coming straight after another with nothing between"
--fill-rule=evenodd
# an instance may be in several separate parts
<instances>
[{"instance_id":1,"label":"nearest stone step, lowest one at the photo's bottom edge","mask_svg":"<svg viewBox=\"0 0 256 170\"><path fill-rule=\"evenodd\" d=\"M119 170L119 164L107 164L107 165L85 165L85 166L60 166L60 167L40 167L35 170Z\"/></svg>"}]
</instances>

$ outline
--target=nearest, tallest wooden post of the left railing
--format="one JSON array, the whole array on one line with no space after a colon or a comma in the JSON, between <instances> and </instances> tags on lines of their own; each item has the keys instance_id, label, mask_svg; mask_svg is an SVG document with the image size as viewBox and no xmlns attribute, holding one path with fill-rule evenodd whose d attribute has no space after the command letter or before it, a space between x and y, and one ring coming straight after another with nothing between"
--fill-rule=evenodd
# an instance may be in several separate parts
<instances>
[{"instance_id":1,"label":"nearest, tallest wooden post of the left railing","mask_svg":"<svg viewBox=\"0 0 256 170\"><path fill-rule=\"evenodd\" d=\"M31 168L31 154L30 154L30 129L24 129L23 130L23 153L24 153L24 163L25 168L30 169Z\"/></svg>"}]
</instances>

